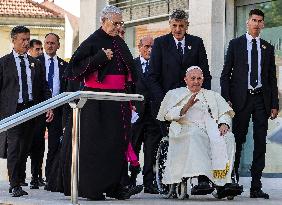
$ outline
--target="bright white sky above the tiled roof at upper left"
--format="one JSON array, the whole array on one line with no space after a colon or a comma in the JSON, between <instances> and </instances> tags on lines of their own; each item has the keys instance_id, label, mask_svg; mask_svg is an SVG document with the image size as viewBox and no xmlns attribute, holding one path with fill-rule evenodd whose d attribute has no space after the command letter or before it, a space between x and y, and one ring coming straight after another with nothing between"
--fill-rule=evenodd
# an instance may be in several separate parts
<instances>
[{"instance_id":1,"label":"bright white sky above the tiled roof at upper left","mask_svg":"<svg viewBox=\"0 0 282 205\"><path fill-rule=\"evenodd\" d=\"M44 0L33 0L38 3L43 2ZM80 0L55 0L55 4L62 7L66 11L74 14L75 16L80 16Z\"/></svg>"}]
</instances>

